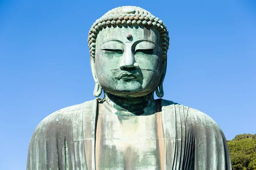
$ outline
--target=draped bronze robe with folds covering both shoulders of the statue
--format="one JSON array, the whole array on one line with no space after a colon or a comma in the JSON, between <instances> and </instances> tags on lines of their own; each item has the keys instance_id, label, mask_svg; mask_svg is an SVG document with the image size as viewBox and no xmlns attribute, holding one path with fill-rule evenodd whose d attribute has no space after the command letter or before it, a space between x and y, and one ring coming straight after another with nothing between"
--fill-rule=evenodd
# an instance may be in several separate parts
<instances>
[{"instance_id":1,"label":"draped bronze robe with folds covering both shoulders of the statue","mask_svg":"<svg viewBox=\"0 0 256 170\"><path fill-rule=\"evenodd\" d=\"M165 170L231 170L225 136L206 114L172 101L162 107L160 155ZM99 99L47 116L29 144L27 170L96 170L95 142Z\"/></svg>"}]
</instances>

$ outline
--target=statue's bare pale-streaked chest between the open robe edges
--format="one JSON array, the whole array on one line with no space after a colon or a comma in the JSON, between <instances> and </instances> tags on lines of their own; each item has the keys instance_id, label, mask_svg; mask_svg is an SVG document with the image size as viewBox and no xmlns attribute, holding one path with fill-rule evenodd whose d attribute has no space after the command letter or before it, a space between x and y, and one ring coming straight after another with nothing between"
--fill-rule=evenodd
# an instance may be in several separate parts
<instances>
[{"instance_id":1,"label":"statue's bare pale-streaked chest between the open robe edges","mask_svg":"<svg viewBox=\"0 0 256 170\"><path fill-rule=\"evenodd\" d=\"M99 113L96 167L108 170L160 169L160 144L164 139L159 114L118 116Z\"/></svg>"}]
</instances>

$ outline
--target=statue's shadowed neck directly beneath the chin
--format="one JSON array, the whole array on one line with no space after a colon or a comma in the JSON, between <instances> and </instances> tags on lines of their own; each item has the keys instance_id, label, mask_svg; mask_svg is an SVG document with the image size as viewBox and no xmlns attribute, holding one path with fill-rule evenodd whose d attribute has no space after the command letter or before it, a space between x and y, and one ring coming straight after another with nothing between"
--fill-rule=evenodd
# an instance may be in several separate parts
<instances>
[{"instance_id":1,"label":"statue's shadowed neck directly beneath the chin","mask_svg":"<svg viewBox=\"0 0 256 170\"><path fill-rule=\"evenodd\" d=\"M118 111L136 112L142 111L154 102L154 91L145 96L130 98L114 96L104 91L104 98L108 105Z\"/></svg>"}]
</instances>

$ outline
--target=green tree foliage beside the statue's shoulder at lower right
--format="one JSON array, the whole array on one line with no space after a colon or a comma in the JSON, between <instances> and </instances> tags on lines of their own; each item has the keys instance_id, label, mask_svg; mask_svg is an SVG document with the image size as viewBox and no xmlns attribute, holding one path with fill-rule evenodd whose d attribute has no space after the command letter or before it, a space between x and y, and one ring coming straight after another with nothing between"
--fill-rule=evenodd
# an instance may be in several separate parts
<instances>
[{"instance_id":1,"label":"green tree foliage beside the statue's shoulder at lower right","mask_svg":"<svg viewBox=\"0 0 256 170\"><path fill-rule=\"evenodd\" d=\"M233 170L256 170L256 134L237 135L227 144Z\"/></svg>"}]
</instances>

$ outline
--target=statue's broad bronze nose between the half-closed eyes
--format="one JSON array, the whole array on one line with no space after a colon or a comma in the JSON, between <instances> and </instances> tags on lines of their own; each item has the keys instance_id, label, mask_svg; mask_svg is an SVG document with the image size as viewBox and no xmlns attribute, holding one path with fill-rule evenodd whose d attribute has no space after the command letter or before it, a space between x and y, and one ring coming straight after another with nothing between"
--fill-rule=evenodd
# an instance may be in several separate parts
<instances>
[{"instance_id":1,"label":"statue's broad bronze nose between the half-closed eyes","mask_svg":"<svg viewBox=\"0 0 256 170\"><path fill-rule=\"evenodd\" d=\"M132 69L139 68L139 65L135 62L134 54L131 50L126 50L123 53L119 68L123 69Z\"/></svg>"}]
</instances>

